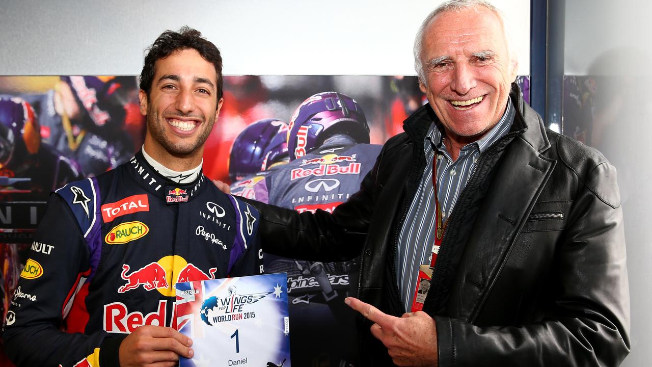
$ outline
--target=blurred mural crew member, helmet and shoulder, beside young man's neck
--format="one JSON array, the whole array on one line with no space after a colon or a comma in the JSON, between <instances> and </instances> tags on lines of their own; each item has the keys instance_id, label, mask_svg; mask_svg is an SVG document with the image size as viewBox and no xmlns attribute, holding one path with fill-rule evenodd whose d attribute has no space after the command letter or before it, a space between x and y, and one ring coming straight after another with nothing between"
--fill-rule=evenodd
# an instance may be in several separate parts
<instances>
[{"instance_id":1,"label":"blurred mural crew member, helmet and shoulder, beside young man's neck","mask_svg":"<svg viewBox=\"0 0 652 367\"><path fill-rule=\"evenodd\" d=\"M256 183L289 162L288 124L271 118L247 126L233 140L229 157L231 195L267 202L267 190Z\"/></svg>"}]
</instances>

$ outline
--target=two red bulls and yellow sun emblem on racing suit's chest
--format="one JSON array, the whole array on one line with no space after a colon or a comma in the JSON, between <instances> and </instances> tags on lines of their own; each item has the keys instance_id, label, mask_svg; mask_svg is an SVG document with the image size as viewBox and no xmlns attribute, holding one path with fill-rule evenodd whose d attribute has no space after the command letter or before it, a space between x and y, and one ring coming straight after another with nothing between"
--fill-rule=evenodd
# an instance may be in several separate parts
<instances>
[{"instance_id":1,"label":"two red bulls and yellow sun emblem on racing suit's chest","mask_svg":"<svg viewBox=\"0 0 652 367\"><path fill-rule=\"evenodd\" d=\"M130 272L128 264L123 264L120 276L126 283L118 288L118 293L132 291L142 285L145 291L156 289L164 296L175 296L176 283L215 279L216 272L217 268L210 268L206 274L194 264L186 263L179 255L162 257L133 272ZM172 279L173 274L175 279Z\"/></svg>"}]
</instances>

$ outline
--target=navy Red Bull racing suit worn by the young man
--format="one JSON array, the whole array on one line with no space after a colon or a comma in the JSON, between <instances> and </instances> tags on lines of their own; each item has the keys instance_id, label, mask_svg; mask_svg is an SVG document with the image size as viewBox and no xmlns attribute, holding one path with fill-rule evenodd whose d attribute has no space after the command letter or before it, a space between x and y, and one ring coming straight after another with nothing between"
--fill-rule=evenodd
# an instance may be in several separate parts
<instances>
[{"instance_id":1,"label":"navy Red Bull racing suit worn by the young man","mask_svg":"<svg viewBox=\"0 0 652 367\"><path fill-rule=\"evenodd\" d=\"M3 326L18 366L118 365L141 325L177 327L180 281L260 274L253 206L198 173L167 181L139 152L50 195ZM181 325L179 325L181 326Z\"/></svg>"}]
</instances>

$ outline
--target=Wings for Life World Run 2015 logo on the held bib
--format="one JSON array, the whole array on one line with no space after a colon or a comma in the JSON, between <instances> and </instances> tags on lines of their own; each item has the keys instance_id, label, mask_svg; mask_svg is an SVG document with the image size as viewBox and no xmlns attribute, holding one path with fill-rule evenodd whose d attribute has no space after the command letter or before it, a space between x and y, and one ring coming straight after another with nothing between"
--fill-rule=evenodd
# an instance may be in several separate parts
<instances>
[{"instance_id":1,"label":"Wings for Life World Run 2015 logo on the held bib","mask_svg":"<svg viewBox=\"0 0 652 367\"><path fill-rule=\"evenodd\" d=\"M235 285L231 285L226 291L226 295L211 296L203 301L200 317L209 326L224 321L254 318L256 315L246 312L244 306L256 303L271 293L278 298L282 292L280 285L277 284L273 291L239 295Z\"/></svg>"}]
</instances>

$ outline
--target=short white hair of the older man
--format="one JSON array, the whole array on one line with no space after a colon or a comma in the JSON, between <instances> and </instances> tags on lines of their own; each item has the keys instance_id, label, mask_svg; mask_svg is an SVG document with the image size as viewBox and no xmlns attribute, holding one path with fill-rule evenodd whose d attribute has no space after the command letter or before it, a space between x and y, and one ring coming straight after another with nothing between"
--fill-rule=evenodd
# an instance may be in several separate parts
<instances>
[{"instance_id":1,"label":"short white hair of the older man","mask_svg":"<svg viewBox=\"0 0 652 367\"><path fill-rule=\"evenodd\" d=\"M435 18L437 14L442 12L459 12L460 10L466 9L474 9L477 12L479 7L488 8L496 14L501 24L503 25L509 58L512 59L515 57L512 55L511 50L512 42L511 31L509 31L509 24L506 22L505 16L503 15L503 12L499 10L499 8L496 8L492 3L486 0L448 0L441 3L439 7L435 8L435 10L432 10L432 12L426 16L426 19L423 20L421 27L419 27L417 35L414 39L414 69L419 75L419 83L423 84L424 86L426 85L426 71L424 69L423 63L421 62L421 53L423 52L423 35L426 33L426 27L428 27L430 21L432 21L432 19Z\"/></svg>"}]
</instances>

